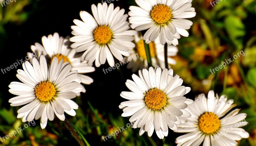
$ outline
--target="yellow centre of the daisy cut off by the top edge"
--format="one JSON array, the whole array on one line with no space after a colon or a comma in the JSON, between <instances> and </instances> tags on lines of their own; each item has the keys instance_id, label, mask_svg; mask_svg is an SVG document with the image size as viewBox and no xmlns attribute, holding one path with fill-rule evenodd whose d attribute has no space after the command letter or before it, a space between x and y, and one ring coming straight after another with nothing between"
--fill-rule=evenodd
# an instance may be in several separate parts
<instances>
[{"instance_id":1,"label":"yellow centre of the daisy cut off by the top edge","mask_svg":"<svg viewBox=\"0 0 256 146\"><path fill-rule=\"evenodd\" d=\"M165 4L157 4L150 12L151 18L158 24L164 24L172 18L171 8Z\"/></svg>"}]
</instances>

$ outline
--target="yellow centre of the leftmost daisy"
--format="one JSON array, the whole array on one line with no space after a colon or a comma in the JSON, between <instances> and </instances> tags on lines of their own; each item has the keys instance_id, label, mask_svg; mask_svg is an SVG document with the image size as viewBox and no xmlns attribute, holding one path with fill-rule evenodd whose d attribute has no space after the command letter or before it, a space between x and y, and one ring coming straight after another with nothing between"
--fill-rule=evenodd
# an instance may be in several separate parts
<instances>
[{"instance_id":1,"label":"yellow centre of the leftmost daisy","mask_svg":"<svg viewBox=\"0 0 256 146\"><path fill-rule=\"evenodd\" d=\"M35 93L40 101L50 101L56 94L56 88L51 82L43 81L36 85Z\"/></svg>"}]
</instances>

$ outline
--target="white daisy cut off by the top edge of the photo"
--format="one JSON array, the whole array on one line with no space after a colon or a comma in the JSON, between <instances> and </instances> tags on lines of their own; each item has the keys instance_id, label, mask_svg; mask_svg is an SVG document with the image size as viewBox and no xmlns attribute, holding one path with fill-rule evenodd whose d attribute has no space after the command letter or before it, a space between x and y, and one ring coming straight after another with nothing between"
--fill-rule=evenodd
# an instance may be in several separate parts
<instances>
[{"instance_id":1,"label":"white daisy cut off by the top edge of the photo","mask_svg":"<svg viewBox=\"0 0 256 146\"><path fill-rule=\"evenodd\" d=\"M130 6L131 27L137 31L147 30L143 39L147 43L160 39L162 45L166 42L178 45L180 35L188 36L193 22L187 20L196 16L192 8L192 0L135 0L140 6ZM159 38L157 38L159 36Z\"/></svg>"}]
</instances>

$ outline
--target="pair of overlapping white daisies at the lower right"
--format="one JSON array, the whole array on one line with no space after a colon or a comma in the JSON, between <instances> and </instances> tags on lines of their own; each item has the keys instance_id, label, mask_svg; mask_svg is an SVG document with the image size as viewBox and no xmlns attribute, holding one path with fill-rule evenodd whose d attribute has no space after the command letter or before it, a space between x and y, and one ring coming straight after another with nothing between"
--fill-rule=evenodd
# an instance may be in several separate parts
<instances>
[{"instance_id":1,"label":"pair of overlapping white daisies at the lower right","mask_svg":"<svg viewBox=\"0 0 256 146\"><path fill-rule=\"evenodd\" d=\"M185 95L190 87L182 86L179 75L173 75L172 69L149 67L133 74L126 86L131 92L122 92L120 96L128 101L119 105L123 117L131 116L133 128L140 128L140 135L154 131L163 139L168 135L168 127L174 132L188 133L176 139L178 146L234 146L236 141L248 138L242 128L248 124L246 114L238 114L240 109L228 113L236 105L225 95L216 96L211 90L206 98L200 94L195 101ZM228 114L227 114L228 113ZM227 114L227 115L226 115Z\"/></svg>"}]
</instances>

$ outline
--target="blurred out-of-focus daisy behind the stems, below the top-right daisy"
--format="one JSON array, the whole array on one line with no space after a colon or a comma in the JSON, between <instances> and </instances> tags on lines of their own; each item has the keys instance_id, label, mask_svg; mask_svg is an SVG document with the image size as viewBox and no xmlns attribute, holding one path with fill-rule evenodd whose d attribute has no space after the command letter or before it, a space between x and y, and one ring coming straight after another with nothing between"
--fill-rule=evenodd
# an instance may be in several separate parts
<instances>
[{"instance_id":1,"label":"blurred out-of-focus daisy behind the stems, below the top-right daisy","mask_svg":"<svg viewBox=\"0 0 256 146\"><path fill-rule=\"evenodd\" d=\"M142 35L139 32L134 36L135 39L135 48L129 48L129 53L131 54L129 57L134 58L136 54L138 54L139 59L132 59L131 61L128 58L125 58L125 62L129 62L127 65L128 69L132 69L132 72L136 72L138 70L142 70L143 68L148 69L148 61L146 56L146 51L144 47L144 41L142 39ZM159 39L156 39L154 42L149 43L149 50L152 59L153 67L159 66L162 69L165 68L164 64L164 46L159 42ZM171 68L171 65L175 65L176 61L171 58L176 56L178 52L178 48L173 45L168 45L167 49L167 57L168 57L168 68Z\"/></svg>"}]
</instances>

